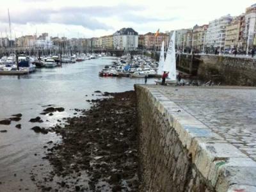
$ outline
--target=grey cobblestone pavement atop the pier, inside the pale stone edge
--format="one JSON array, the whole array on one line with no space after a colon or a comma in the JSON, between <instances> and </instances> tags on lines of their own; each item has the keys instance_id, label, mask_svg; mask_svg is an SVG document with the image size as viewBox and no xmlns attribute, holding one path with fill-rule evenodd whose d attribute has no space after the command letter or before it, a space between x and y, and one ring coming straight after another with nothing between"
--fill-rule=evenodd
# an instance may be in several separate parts
<instances>
[{"instance_id":1,"label":"grey cobblestone pavement atop the pier, inside the pale stone edge","mask_svg":"<svg viewBox=\"0 0 256 192\"><path fill-rule=\"evenodd\" d=\"M256 161L256 88L152 87Z\"/></svg>"}]
</instances>

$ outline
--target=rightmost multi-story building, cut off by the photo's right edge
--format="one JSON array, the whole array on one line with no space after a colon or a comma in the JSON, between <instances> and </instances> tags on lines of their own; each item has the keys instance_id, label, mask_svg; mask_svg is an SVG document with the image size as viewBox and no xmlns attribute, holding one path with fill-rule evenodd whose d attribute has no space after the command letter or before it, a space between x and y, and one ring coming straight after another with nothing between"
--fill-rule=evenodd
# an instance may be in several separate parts
<instances>
[{"instance_id":1,"label":"rightmost multi-story building, cut off by the photo's right edge","mask_svg":"<svg viewBox=\"0 0 256 192\"><path fill-rule=\"evenodd\" d=\"M255 38L256 38L256 3L252 6L246 8L246 12L244 15L244 39L246 40L246 46L248 44L249 48L255 46Z\"/></svg>"}]
</instances>

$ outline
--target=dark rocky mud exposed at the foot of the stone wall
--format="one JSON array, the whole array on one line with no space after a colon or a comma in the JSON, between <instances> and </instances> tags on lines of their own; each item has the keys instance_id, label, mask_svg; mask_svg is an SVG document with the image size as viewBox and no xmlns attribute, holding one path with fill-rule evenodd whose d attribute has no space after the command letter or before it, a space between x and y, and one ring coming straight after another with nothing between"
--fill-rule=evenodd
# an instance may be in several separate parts
<instances>
[{"instance_id":1,"label":"dark rocky mud exposed at the foot of the stone wall","mask_svg":"<svg viewBox=\"0 0 256 192\"><path fill-rule=\"evenodd\" d=\"M41 191L138 191L135 94L102 95L112 97L92 100L81 116L63 118L65 127L51 128L62 141L44 146L52 172L43 181L31 175ZM52 184L56 177L62 180Z\"/></svg>"}]
</instances>

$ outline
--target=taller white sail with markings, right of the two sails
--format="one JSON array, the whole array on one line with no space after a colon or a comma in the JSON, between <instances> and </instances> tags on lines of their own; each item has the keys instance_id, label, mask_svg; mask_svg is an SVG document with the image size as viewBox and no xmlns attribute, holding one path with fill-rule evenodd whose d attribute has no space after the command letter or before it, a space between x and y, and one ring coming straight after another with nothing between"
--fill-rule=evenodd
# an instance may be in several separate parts
<instances>
[{"instance_id":1,"label":"taller white sail with markings, right of the two sails","mask_svg":"<svg viewBox=\"0 0 256 192\"><path fill-rule=\"evenodd\" d=\"M169 42L163 71L169 72L168 77L170 78L170 80L177 80L176 57L175 57L175 31L173 31L172 38L170 39L170 42Z\"/></svg>"}]
</instances>

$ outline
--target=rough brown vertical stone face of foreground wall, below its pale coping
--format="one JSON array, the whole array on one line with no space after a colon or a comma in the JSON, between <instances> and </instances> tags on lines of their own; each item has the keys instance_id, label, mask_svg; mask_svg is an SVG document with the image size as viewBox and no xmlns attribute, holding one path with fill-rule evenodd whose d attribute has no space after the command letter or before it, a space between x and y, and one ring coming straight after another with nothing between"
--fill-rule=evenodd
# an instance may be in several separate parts
<instances>
[{"instance_id":1,"label":"rough brown vertical stone face of foreground wall, below its pale coping","mask_svg":"<svg viewBox=\"0 0 256 192\"><path fill-rule=\"evenodd\" d=\"M168 116L136 88L140 127L140 191L214 191L191 162Z\"/></svg>"}]
</instances>

